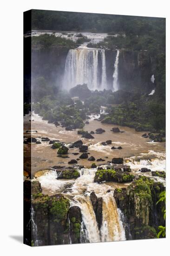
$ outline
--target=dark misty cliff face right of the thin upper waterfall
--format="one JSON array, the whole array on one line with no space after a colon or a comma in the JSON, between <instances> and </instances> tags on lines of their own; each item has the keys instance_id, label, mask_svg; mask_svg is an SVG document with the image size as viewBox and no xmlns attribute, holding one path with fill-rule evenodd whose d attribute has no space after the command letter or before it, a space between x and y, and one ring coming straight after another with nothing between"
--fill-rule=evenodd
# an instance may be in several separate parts
<instances>
[{"instance_id":1,"label":"dark misty cliff face right of the thin upper waterfall","mask_svg":"<svg viewBox=\"0 0 170 256\"><path fill-rule=\"evenodd\" d=\"M118 81L120 89L150 92L153 83L154 60L149 51L120 50L118 64Z\"/></svg>"}]
</instances>

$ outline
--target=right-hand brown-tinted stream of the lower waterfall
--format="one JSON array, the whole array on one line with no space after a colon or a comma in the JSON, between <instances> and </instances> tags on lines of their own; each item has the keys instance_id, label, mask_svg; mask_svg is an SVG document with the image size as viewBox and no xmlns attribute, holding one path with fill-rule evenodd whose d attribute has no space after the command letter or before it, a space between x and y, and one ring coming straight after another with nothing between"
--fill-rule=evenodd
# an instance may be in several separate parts
<instances>
[{"instance_id":1,"label":"right-hand brown-tinted stream of the lower waterfall","mask_svg":"<svg viewBox=\"0 0 170 256\"><path fill-rule=\"evenodd\" d=\"M103 196L103 222L101 227L101 241L126 240L123 223L118 213L117 205L112 193Z\"/></svg>"}]
</instances>

